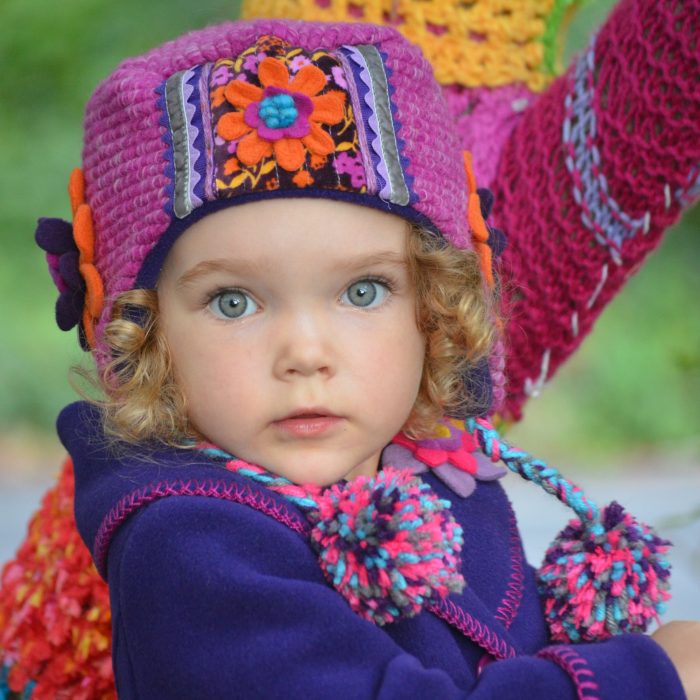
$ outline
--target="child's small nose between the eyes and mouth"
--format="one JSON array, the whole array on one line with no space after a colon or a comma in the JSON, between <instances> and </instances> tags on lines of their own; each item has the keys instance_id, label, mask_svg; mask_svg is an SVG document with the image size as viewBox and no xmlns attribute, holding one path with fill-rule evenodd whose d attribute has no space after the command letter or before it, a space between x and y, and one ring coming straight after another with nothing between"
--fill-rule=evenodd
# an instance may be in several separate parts
<instances>
[{"instance_id":1,"label":"child's small nose between the eyes and mouth","mask_svg":"<svg viewBox=\"0 0 700 700\"><path fill-rule=\"evenodd\" d=\"M321 314L304 310L278 319L274 373L288 381L298 377L330 377L335 372L332 333Z\"/></svg>"}]
</instances>

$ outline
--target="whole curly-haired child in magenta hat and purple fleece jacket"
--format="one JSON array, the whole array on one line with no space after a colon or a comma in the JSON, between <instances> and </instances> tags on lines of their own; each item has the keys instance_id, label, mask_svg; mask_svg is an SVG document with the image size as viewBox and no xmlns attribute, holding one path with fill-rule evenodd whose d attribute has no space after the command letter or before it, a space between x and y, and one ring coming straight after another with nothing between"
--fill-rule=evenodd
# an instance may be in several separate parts
<instances>
[{"instance_id":1,"label":"whole curly-haired child in magenta hat and purple fleece jacket","mask_svg":"<svg viewBox=\"0 0 700 700\"><path fill-rule=\"evenodd\" d=\"M386 28L225 25L98 88L72 230L37 238L107 395L59 433L120 697L692 688L673 643L697 627L662 629L680 678L649 638L609 638L661 609L663 541L480 418L501 240L466 164ZM544 613L485 456L582 521Z\"/></svg>"}]
</instances>

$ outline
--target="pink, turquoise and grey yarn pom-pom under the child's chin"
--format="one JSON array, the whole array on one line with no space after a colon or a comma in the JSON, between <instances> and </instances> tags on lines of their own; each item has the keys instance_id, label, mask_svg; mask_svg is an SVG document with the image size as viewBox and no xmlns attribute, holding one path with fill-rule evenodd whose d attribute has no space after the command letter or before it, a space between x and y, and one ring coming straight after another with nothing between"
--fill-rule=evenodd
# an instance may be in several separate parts
<instances>
[{"instance_id":1,"label":"pink, turquoise and grey yarn pom-pom under the child's chin","mask_svg":"<svg viewBox=\"0 0 700 700\"><path fill-rule=\"evenodd\" d=\"M428 484L391 467L327 489L311 542L350 607L384 625L464 588L462 528Z\"/></svg>"}]
</instances>

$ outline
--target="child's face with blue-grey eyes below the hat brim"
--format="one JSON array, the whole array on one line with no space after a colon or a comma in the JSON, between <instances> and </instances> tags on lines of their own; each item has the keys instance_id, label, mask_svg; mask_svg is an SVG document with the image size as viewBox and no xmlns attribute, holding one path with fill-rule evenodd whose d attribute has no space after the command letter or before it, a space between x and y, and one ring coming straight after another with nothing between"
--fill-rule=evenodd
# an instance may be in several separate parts
<instances>
[{"instance_id":1,"label":"child's face with blue-grey eyes below the hat brim","mask_svg":"<svg viewBox=\"0 0 700 700\"><path fill-rule=\"evenodd\" d=\"M296 483L374 474L423 371L408 235L396 216L322 199L193 224L158 299L194 427Z\"/></svg>"}]
</instances>

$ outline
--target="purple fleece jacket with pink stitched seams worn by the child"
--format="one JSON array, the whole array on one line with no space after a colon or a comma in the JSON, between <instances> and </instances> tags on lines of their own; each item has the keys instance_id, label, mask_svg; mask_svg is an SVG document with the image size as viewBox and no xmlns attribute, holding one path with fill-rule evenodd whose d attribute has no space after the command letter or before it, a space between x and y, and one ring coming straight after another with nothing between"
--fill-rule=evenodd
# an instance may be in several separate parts
<instances>
[{"instance_id":1,"label":"purple fleece jacket with pink stitched seams worn by the child","mask_svg":"<svg viewBox=\"0 0 700 700\"><path fill-rule=\"evenodd\" d=\"M186 450L105 447L68 406L78 529L109 583L120 700L684 698L650 638L549 645L534 572L498 482L461 499L464 592L383 628L325 580L304 515Z\"/></svg>"}]
</instances>

